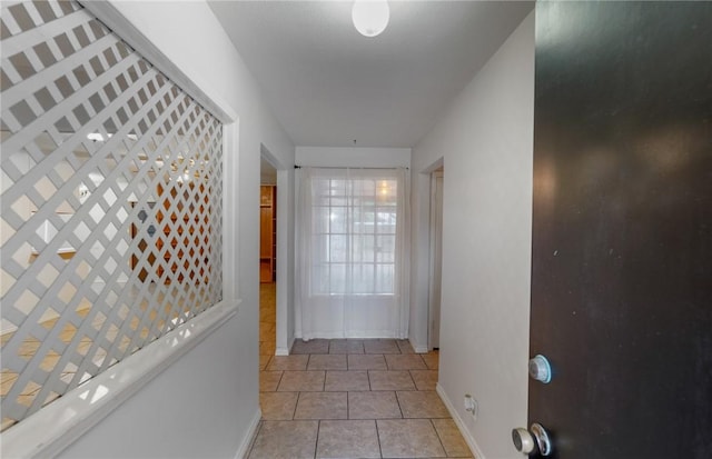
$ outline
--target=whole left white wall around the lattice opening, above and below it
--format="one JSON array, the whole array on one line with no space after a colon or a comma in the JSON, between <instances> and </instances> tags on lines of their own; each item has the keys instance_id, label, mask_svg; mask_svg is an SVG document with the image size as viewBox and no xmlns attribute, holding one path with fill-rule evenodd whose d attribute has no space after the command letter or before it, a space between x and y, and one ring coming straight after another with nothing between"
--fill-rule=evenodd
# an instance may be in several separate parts
<instances>
[{"instance_id":1,"label":"whole left white wall around the lattice opening, above and below it","mask_svg":"<svg viewBox=\"0 0 712 459\"><path fill-rule=\"evenodd\" d=\"M288 181L294 180L294 146L207 3L111 3L202 91L237 113L239 129L226 127L233 148L225 152L225 192L235 204L224 210L226 233L237 242L224 242L227 272L236 276L224 283L225 297L243 302L235 318L60 457L231 458L249 440L259 416L260 143L286 166ZM285 206L293 202L285 200ZM294 210L287 209L287 216L293 218ZM294 239L289 231L287 238ZM288 267L294 276L294 262Z\"/></svg>"}]
</instances>

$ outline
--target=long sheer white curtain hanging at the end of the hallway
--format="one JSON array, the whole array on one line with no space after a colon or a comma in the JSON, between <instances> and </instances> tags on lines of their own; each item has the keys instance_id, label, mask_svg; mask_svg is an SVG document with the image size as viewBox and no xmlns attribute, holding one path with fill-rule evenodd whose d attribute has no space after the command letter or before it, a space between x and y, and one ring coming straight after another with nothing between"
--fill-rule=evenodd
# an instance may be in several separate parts
<instances>
[{"instance_id":1,"label":"long sheer white curtain hanging at the end of the hallway","mask_svg":"<svg viewBox=\"0 0 712 459\"><path fill-rule=\"evenodd\" d=\"M300 174L297 337L406 338L405 170Z\"/></svg>"}]
</instances>

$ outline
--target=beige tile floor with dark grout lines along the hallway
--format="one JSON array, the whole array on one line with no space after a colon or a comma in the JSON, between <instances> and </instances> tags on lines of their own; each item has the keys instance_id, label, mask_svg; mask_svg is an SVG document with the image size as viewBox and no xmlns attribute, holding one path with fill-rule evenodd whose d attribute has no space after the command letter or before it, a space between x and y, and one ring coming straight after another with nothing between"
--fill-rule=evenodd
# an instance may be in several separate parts
<instances>
[{"instance_id":1,"label":"beige tile floor with dark grout lines along the hallway","mask_svg":"<svg viewBox=\"0 0 712 459\"><path fill-rule=\"evenodd\" d=\"M407 340L297 340L275 353L275 285L260 285L263 420L249 459L472 458L435 392L437 352Z\"/></svg>"}]
</instances>

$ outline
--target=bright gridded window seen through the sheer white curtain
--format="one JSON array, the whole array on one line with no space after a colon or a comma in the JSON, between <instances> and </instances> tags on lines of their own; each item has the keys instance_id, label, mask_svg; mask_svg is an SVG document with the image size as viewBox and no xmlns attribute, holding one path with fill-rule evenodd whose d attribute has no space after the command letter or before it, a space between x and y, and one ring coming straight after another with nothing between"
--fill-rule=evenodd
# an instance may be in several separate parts
<instances>
[{"instance_id":1,"label":"bright gridded window seen through the sheer white curtain","mask_svg":"<svg viewBox=\"0 0 712 459\"><path fill-rule=\"evenodd\" d=\"M312 193L312 293L394 295L397 180L315 177Z\"/></svg>"}]
</instances>

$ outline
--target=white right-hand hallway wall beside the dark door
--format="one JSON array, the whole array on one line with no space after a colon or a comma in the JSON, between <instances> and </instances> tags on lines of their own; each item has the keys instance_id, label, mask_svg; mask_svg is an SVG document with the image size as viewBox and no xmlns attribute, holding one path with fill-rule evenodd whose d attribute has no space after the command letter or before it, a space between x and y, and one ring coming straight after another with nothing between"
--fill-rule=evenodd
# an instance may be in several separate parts
<instances>
[{"instance_id":1,"label":"white right-hand hallway wall beside the dark door","mask_svg":"<svg viewBox=\"0 0 712 459\"><path fill-rule=\"evenodd\" d=\"M487 459L521 458L511 430L526 426L533 112L532 13L413 150L415 331L427 325L417 287L427 285L428 176L421 172L442 158L438 391ZM463 409L465 393L479 402L476 422Z\"/></svg>"}]
</instances>

